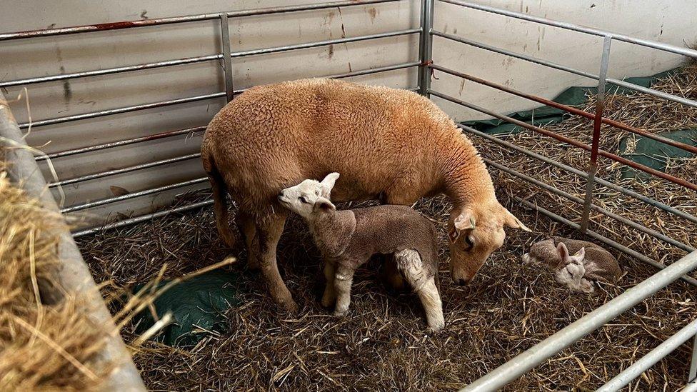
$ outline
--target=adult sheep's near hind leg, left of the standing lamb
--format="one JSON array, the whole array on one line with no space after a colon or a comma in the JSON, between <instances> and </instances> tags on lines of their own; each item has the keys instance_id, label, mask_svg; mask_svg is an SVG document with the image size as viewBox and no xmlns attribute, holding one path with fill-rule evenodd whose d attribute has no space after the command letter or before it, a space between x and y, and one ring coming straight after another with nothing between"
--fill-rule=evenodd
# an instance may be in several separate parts
<instances>
[{"instance_id":1,"label":"adult sheep's near hind leg, left of the standing lamb","mask_svg":"<svg viewBox=\"0 0 697 392\"><path fill-rule=\"evenodd\" d=\"M279 266L276 263L276 246L279 244L285 223L286 213L284 211L256 218L256 233L259 234L259 261L261 273L264 274L264 280L271 297L276 303L284 306L286 310L297 313L298 304L293 301L291 292L281 279Z\"/></svg>"}]
</instances>

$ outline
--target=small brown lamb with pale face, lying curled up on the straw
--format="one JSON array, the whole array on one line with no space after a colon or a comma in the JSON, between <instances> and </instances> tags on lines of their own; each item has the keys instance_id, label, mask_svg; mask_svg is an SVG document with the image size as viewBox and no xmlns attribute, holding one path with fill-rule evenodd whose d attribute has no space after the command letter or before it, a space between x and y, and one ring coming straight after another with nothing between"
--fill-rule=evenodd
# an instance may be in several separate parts
<instances>
[{"instance_id":1,"label":"small brown lamb with pale face, lying curled up on the straw","mask_svg":"<svg viewBox=\"0 0 697 392\"><path fill-rule=\"evenodd\" d=\"M530 252L523 255L523 262L543 263L554 271L557 283L583 293L594 291L591 281L616 283L622 276L619 263L610 252L595 243L569 238L552 237L534 243Z\"/></svg>"}]
</instances>

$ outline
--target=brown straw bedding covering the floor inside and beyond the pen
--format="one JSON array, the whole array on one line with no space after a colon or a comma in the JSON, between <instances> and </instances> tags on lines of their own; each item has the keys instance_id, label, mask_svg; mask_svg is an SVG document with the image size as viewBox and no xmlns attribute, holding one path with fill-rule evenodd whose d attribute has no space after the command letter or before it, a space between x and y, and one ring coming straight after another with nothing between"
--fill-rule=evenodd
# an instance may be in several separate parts
<instances>
[{"instance_id":1,"label":"brown straw bedding covering the floor inside and beyond the pen","mask_svg":"<svg viewBox=\"0 0 697 392\"><path fill-rule=\"evenodd\" d=\"M694 68L657 87L673 94L697 98ZM679 88L678 88L679 85ZM589 102L588 106L592 106ZM611 96L607 113L613 119L654 131L696 126L697 112L658 104L643 95ZM571 119L551 126L566 136L589 142L590 126ZM621 132L603 128L601 147L616 151ZM581 179L556 171L531 159L473 138L482 154L497 162L583 196ZM585 169L588 156L551 139L530 134L512 141L534 151ZM688 162L694 169L694 162ZM693 170L690 169L690 170ZM691 178L684 169L673 173ZM230 331L211 335L184 351L147 342L136 353L146 384L155 390L452 390L469 383L517 353L550 336L584 313L601 306L656 270L618 256L626 271L618 286L603 285L593 296L573 294L558 286L547 271L523 266L520 257L543 236L578 237L576 232L544 216L511 203L515 194L536 201L578 221L580 206L535 191L507 174L491 170L499 200L533 229L533 235L509 231L506 244L493 253L467 287L450 283L447 271L447 237L444 223L449 205L444 198L420 201L415 208L438 224L441 237L441 296L446 328L435 336L426 328L418 299L411 293L385 288L371 264L356 274L352 303L346 318L331 316L319 305L324 288L319 254L298 218L291 218L279 245L284 280L301 306L301 313L279 313L258 272L246 271L245 254L226 249L219 240L212 208L174 214L137 226L81 239L80 245L98 281L111 281L121 290L148 281L166 265L165 276L180 276L221 261L229 253L241 263L227 267L240 271L241 303L227 314ZM600 175L618 179L618 168L603 161ZM693 178L693 177L692 177ZM623 185L653 198L696 213L694 193L666 181ZM645 208L626 196L596 187L594 202L655 228L684 243L694 241L697 228ZM209 197L189 195L180 203ZM356 205L353 205L356 206ZM348 207L347 205L343 206ZM593 229L648 256L670 263L684 251L636 233L621 223L593 214ZM550 361L509 385L509 391L589 390L600 386L672 333L697 317L693 286L677 281L655 296L591 333ZM127 328L128 329L128 328ZM129 331L127 339L134 339ZM687 377L691 347L683 345L630 384L632 391L676 391Z\"/></svg>"}]
</instances>

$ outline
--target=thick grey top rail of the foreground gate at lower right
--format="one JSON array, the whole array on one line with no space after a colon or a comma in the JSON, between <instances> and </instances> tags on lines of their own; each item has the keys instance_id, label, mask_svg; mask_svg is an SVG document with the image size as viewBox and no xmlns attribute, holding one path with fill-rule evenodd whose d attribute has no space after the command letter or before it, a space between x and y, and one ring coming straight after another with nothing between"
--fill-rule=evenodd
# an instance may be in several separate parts
<instances>
[{"instance_id":1,"label":"thick grey top rail of the foreground gate at lower right","mask_svg":"<svg viewBox=\"0 0 697 392\"><path fill-rule=\"evenodd\" d=\"M561 331L528 348L528 350L518 354L511 361L487 373L486 376L479 378L461 391L488 392L496 391L498 388L506 386L506 384L522 376L523 373L530 371L551 356L560 353L564 348L576 343L576 341L588 333L596 331L596 329L608 321L633 308L637 303L645 300L653 293L656 293L656 291L661 290L661 288L668 286L668 284L692 271L695 267L697 267L697 251L663 268L663 270L629 288L603 306L591 311L591 313L586 313L586 316L579 318Z\"/></svg>"}]
</instances>

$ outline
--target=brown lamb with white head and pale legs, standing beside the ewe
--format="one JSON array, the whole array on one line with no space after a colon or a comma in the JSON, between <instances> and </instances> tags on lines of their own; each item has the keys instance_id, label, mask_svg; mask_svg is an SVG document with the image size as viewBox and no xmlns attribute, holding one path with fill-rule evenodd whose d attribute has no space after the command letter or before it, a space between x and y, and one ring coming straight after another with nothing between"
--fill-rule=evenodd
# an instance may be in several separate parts
<instances>
[{"instance_id":1,"label":"brown lamb with white head and pale legs, standing beside the ewe","mask_svg":"<svg viewBox=\"0 0 697 392\"><path fill-rule=\"evenodd\" d=\"M284 189L279 201L302 216L324 256L327 285L322 306L336 303L344 316L351 302L353 272L374 254L394 254L398 270L421 299L431 331L443 328L443 307L436 288L438 248L431 221L408 206L376 206L336 211L329 195L338 173L305 180Z\"/></svg>"}]
</instances>

